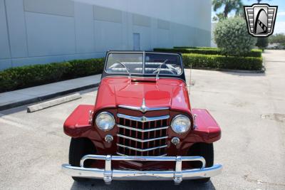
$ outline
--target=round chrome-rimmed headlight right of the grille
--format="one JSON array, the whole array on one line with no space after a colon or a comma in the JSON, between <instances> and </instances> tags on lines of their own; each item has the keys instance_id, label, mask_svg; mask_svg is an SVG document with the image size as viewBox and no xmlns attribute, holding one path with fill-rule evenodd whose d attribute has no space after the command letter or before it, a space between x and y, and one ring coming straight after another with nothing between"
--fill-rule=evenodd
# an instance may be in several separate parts
<instances>
[{"instance_id":1,"label":"round chrome-rimmed headlight right of the grille","mask_svg":"<svg viewBox=\"0 0 285 190\"><path fill-rule=\"evenodd\" d=\"M185 115L177 115L171 122L171 128L174 132L184 133L187 132L191 127L191 121L189 117Z\"/></svg>"}]
</instances>

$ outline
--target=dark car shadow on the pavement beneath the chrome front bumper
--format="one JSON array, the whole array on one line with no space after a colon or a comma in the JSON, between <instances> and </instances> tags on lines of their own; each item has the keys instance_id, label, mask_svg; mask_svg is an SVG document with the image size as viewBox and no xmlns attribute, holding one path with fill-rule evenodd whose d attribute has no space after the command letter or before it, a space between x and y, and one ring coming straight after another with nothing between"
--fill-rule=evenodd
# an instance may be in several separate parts
<instances>
[{"instance_id":1,"label":"dark car shadow on the pavement beneath the chrome front bumper","mask_svg":"<svg viewBox=\"0 0 285 190\"><path fill-rule=\"evenodd\" d=\"M182 184L175 185L173 181L112 181L106 185L103 180L90 180L85 182L73 182L71 190L76 189L215 189L212 181L205 184L195 183L194 181L182 181Z\"/></svg>"}]
</instances>

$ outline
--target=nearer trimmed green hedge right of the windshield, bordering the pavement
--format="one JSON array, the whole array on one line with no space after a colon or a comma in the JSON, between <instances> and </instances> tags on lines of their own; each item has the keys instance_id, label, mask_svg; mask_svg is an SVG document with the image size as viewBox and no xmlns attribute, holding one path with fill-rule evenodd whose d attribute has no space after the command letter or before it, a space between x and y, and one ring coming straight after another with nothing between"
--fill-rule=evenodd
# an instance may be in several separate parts
<instances>
[{"instance_id":1,"label":"nearer trimmed green hedge right of the windshield, bordering the pavement","mask_svg":"<svg viewBox=\"0 0 285 190\"><path fill-rule=\"evenodd\" d=\"M221 55L202 55L195 53L182 54L186 68L214 68L214 69L237 69L237 70L261 70L262 58L234 57Z\"/></svg>"}]
</instances>

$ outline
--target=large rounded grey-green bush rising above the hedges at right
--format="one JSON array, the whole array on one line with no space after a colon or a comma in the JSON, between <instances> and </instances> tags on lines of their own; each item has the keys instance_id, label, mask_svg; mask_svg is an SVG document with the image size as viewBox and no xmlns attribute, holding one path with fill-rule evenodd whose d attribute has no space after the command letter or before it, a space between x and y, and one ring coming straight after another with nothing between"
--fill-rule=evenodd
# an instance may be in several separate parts
<instances>
[{"instance_id":1,"label":"large rounded grey-green bush rising above the hedges at right","mask_svg":"<svg viewBox=\"0 0 285 190\"><path fill-rule=\"evenodd\" d=\"M240 17L219 21L214 28L214 41L226 56L247 56L257 42Z\"/></svg>"}]
</instances>

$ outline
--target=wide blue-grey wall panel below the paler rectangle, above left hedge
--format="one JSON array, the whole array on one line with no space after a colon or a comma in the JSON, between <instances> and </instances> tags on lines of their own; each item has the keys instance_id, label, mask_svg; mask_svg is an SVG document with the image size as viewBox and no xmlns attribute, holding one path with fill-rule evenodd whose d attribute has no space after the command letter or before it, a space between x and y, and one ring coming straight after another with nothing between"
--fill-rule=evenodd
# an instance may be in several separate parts
<instances>
[{"instance_id":1,"label":"wide blue-grey wall panel below the paler rectangle, above left hedge","mask_svg":"<svg viewBox=\"0 0 285 190\"><path fill-rule=\"evenodd\" d=\"M26 12L29 56L76 53L74 19Z\"/></svg>"}]
</instances>

